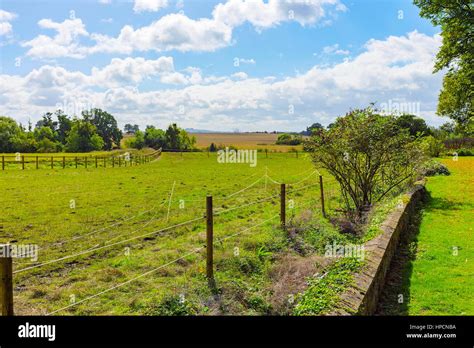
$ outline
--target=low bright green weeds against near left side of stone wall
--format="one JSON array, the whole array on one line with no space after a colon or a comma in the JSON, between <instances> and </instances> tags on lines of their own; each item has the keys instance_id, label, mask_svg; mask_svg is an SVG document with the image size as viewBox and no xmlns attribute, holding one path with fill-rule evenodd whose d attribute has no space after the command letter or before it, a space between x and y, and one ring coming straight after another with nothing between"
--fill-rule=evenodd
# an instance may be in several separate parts
<instances>
[{"instance_id":1,"label":"low bright green weeds against near left side of stone wall","mask_svg":"<svg viewBox=\"0 0 474 348\"><path fill-rule=\"evenodd\" d=\"M339 295L353 280L353 274L359 271L363 262L356 258L343 258L329 266L325 275L308 280L308 288L296 298L294 315L321 315L334 308Z\"/></svg>"}]
</instances>

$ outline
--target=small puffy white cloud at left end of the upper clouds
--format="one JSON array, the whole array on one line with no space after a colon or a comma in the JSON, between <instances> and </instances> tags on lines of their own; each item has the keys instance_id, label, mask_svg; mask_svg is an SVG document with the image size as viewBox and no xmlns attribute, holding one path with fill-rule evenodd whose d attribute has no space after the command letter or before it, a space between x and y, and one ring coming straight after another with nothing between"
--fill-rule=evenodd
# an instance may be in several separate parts
<instances>
[{"instance_id":1,"label":"small puffy white cloud at left end of the upper clouds","mask_svg":"<svg viewBox=\"0 0 474 348\"><path fill-rule=\"evenodd\" d=\"M28 56L37 58L84 58L86 49L79 45L81 36L88 36L85 25L79 18L66 19L62 23L51 19L42 19L38 25L44 29L53 29L57 34L51 38L39 35L30 41L23 42L23 47L31 47L26 53Z\"/></svg>"}]
</instances>

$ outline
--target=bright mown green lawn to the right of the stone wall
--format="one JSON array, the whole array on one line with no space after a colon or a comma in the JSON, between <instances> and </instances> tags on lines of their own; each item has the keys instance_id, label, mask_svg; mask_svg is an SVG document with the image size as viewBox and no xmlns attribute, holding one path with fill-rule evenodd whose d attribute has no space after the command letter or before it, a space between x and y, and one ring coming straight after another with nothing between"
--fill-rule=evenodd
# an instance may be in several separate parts
<instances>
[{"instance_id":1,"label":"bright mown green lawn to the right of the stone wall","mask_svg":"<svg viewBox=\"0 0 474 348\"><path fill-rule=\"evenodd\" d=\"M430 196L397 251L380 314L474 315L474 158L441 162L451 175L428 178Z\"/></svg>"}]
</instances>

